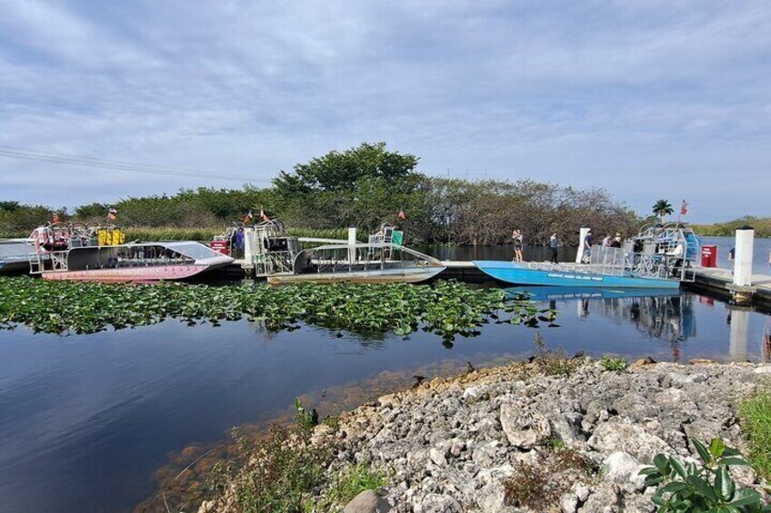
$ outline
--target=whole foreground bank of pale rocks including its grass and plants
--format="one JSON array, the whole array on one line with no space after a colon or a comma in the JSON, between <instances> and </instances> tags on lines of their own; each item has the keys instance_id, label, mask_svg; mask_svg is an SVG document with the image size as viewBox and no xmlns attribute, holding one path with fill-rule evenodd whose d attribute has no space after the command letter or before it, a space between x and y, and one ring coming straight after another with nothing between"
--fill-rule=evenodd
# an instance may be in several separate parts
<instances>
[{"instance_id":1,"label":"whole foreground bank of pale rocks including its grass and plants","mask_svg":"<svg viewBox=\"0 0 771 513\"><path fill-rule=\"evenodd\" d=\"M318 425L297 403L199 513L768 511L769 386L771 365L540 344Z\"/></svg>"}]
</instances>

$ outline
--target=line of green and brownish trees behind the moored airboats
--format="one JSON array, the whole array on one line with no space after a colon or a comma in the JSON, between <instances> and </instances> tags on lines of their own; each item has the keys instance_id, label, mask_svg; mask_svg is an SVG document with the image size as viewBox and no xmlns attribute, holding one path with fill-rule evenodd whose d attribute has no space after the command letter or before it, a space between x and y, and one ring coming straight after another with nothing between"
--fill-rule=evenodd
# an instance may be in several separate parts
<instances>
[{"instance_id":1,"label":"line of green and brownish trees behind the moored airboats","mask_svg":"<svg viewBox=\"0 0 771 513\"><path fill-rule=\"evenodd\" d=\"M105 221L110 208L125 227L213 229L243 221L252 212L282 219L287 226L328 230L356 226L375 232L391 222L406 242L485 245L510 241L522 230L526 243L548 241L556 232L575 242L581 226L596 234L636 233L640 219L603 189L576 189L529 179L468 181L416 172L415 155L389 151L386 143L362 143L330 152L280 172L270 187L201 187L172 195L93 202L72 212L42 205L0 202L0 235L25 236L54 213L60 220ZM401 212L401 214L400 214ZM402 215L403 214L403 215Z\"/></svg>"}]
</instances>

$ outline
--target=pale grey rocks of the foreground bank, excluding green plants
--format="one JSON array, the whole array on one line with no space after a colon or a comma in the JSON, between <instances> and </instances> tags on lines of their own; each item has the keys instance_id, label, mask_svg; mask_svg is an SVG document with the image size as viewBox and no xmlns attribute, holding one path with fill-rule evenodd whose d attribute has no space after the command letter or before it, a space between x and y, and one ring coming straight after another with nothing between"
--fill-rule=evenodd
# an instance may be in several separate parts
<instances>
[{"instance_id":1,"label":"pale grey rocks of the foreground bank, excluding green plants","mask_svg":"<svg viewBox=\"0 0 771 513\"><path fill-rule=\"evenodd\" d=\"M695 460L693 438L744 449L737 403L766 379L768 365L536 360L386 395L312 443L332 444L330 475L361 464L388 476L347 513L653 511L638 471L657 453ZM760 489L751 469L732 471ZM201 508L227 510L227 495Z\"/></svg>"}]
</instances>

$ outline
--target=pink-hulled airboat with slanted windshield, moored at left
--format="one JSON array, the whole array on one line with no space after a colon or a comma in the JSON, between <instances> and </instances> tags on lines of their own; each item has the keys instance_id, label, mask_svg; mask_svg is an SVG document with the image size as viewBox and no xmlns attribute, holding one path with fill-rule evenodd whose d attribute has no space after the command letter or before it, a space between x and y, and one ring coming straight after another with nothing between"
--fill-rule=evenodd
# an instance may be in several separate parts
<instances>
[{"instance_id":1,"label":"pink-hulled airboat with slanted windshield, moored at left","mask_svg":"<svg viewBox=\"0 0 771 513\"><path fill-rule=\"evenodd\" d=\"M57 222L27 243L30 273L45 280L152 283L185 280L234 259L199 242L125 242L114 225Z\"/></svg>"}]
</instances>

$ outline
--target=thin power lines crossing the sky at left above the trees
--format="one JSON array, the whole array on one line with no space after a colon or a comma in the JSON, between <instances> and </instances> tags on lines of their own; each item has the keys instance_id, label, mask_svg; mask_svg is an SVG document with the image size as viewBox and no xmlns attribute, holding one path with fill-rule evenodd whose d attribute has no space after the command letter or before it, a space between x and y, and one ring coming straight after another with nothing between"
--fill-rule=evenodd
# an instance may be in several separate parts
<instances>
[{"instance_id":1,"label":"thin power lines crossing the sky at left above the trees","mask_svg":"<svg viewBox=\"0 0 771 513\"><path fill-rule=\"evenodd\" d=\"M238 174L213 173L186 168L174 168L165 166L149 165L144 163L126 163L121 161L108 161L94 157L85 157L66 153L52 153L41 150L30 150L26 148L14 148L12 146L0 146L0 157L13 159L23 159L30 161L42 161L48 163L63 163L69 165L78 165L93 167L97 169L111 169L116 171L127 171L131 173L149 173L165 174L169 176L190 176L196 178L215 178L218 180L234 180L237 182L269 182L267 178L255 179Z\"/></svg>"}]
</instances>

